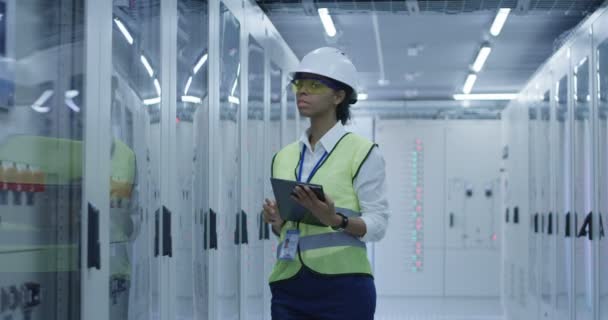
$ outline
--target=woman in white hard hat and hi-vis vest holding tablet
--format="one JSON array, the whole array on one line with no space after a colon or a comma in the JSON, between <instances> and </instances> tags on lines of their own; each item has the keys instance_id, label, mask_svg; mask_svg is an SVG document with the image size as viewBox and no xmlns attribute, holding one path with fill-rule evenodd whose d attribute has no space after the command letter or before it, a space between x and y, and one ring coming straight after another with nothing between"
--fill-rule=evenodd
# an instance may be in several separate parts
<instances>
[{"instance_id":1,"label":"woman in white hard hat and hi-vis vest holding tablet","mask_svg":"<svg viewBox=\"0 0 608 320\"><path fill-rule=\"evenodd\" d=\"M344 124L357 100L357 71L344 53L319 48L292 74L300 114L311 126L278 152L274 178L323 185L325 201L308 187L294 200L316 219L283 221L266 199L264 219L280 237L270 276L272 318L373 319L376 289L367 259L388 222L384 159L369 140Z\"/></svg>"}]
</instances>

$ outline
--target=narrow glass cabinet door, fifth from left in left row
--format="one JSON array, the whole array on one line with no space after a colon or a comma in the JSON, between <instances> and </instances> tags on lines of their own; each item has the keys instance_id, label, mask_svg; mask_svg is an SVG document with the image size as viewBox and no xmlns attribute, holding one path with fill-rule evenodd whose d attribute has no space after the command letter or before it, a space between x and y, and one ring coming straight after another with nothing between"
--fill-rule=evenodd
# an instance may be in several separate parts
<instances>
[{"instance_id":1,"label":"narrow glass cabinet door, fifth from left in left row","mask_svg":"<svg viewBox=\"0 0 608 320\"><path fill-rule=\"evenodd\" d=\"M270 238L269 226L264 223L262 203L264 184L268 180L263 170L266 163L266 52L252 36L247 45L247 119L244 125L243 211L241 212L242 263L244 287L241 293L242 318L263 319L264 288L264 241Z\"/></svg>"}]
</instances>

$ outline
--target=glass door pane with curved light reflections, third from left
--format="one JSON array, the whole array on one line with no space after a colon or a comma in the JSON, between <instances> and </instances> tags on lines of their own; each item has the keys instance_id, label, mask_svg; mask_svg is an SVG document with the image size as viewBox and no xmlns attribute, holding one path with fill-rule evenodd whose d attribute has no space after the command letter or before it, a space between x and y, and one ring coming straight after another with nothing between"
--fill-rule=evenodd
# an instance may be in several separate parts
<instances>
[{"instance_id":1,"label":"glass door pane with curved light reflections, third from left","mask_svg":"<svg viewBox=\"0 0 608 320\"><path fill-rule=\"evenodd\" d=\"M207 318L206 255L203 255L204 223L200 216L207 204L207 187L197 181L208 152L200 152L201 140L208 137L207 122L200 113L208 112L208 5L206 0L178 0L177 88L175 146L176 170L180 202L173 212L178 228L173 236L176 259L176 308L174 319ZM200 110L200 111L199 111ZM200 132L205 130L205 132ZM193 147L194 146L194 147ZM206 167L205 167L206 168ZM191 189L194 184L194 192ZM202 183L207 182L205 177ZM202 188L201 188L202 187ZM202 198L202 199L199 199ZM204 206L203 206L204 205ZM192 217L195 215L195 217ZM191 223L194 221L194 225ZM196 234L196 235L195 235ZM195 239L197 242L195 242ZM200 242L199 242L200 241ZM196 250L193 244L196 243ZM192 263L194 261L194 264ZM196 281L193 283L193 279ZM193 291L194 286L194 291ZM195 300L196 299L196 300ZM196 310L194 310L196 309Z\"/></svg>"}]
</instances>

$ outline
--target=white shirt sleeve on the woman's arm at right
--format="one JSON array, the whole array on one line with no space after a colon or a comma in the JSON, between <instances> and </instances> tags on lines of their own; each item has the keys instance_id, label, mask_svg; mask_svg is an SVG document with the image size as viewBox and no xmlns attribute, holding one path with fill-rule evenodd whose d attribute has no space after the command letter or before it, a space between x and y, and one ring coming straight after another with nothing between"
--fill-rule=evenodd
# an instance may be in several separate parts
<instances>
[{"instance_id":1,"label":"white shirt sleeve on the woman's arm at right","mask_svg":"<svg viewBox=\"0 0 608 320\"><path fill-rule=\"evenodd\" d=\"M360 238L364 242L380 241L384 238L388 226L390 209L386 195L385 168L384 157L375 147L354 181L361 207L361 219L367 229L367 233Z\"/></svg>"}]
</instances>

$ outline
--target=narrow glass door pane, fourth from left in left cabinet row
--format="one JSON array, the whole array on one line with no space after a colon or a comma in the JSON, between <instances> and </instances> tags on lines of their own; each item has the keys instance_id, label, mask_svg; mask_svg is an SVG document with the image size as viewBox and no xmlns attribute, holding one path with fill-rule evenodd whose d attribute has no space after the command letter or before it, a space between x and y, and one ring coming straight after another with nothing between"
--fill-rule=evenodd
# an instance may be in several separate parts
<instances>
[{"instance_id":1,"label":"narrow glass door pane, fourth from left in left cabinet row","mask_svg":"<svg viewBox=\"0 0 608 320\"><path fill-rule=\"evenodd\" d=\"M235 244L236 216L240 214L240 23L222 3L220 7L220 123L218 151L219 207L218 207L218 319L237 319L239 316L238 281L239 257Z\"/></svg>"}]
</instances>

